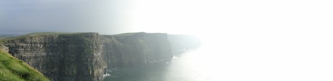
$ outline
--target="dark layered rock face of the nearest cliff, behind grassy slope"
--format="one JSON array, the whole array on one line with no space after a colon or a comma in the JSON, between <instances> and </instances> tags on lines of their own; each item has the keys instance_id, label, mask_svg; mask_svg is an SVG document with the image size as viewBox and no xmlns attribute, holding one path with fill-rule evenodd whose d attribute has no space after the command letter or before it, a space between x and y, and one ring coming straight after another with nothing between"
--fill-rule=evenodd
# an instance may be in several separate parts
<instances>
[{"instance_id":1,"label":"dark layered rock face of the nearest cliff, behind grassy slope","mask_svg":"<svg viewBox=\"0 0 333 81\"><path fill-rule=\"evenodd\" d=\"M51 80L102 80L106 69L98 33L26 36L5 45Z\"/></svg>"}]
</instances>

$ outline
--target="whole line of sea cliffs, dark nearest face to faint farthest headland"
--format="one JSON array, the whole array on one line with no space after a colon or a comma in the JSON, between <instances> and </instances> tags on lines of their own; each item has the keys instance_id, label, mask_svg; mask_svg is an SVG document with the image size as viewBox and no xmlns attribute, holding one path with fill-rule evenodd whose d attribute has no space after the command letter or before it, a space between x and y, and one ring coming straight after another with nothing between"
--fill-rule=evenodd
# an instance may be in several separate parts
<instances>
[{"instance_id":1,"label":"whole line of sea cliffs, dark nearest face to faint farthest headland","mask_svg":"<svg viewBox=\"0 0 333 81\"><path fill-rule=\"evenodd\" d=\"M51 80L102 80L107 68L144 66L154 60L172 58L173 50L197 46L187 44L191 40L179 42L183 39L177 37L168 39L166 33L144 32L32 33L0 42L14 57Z\"/></svg>"}]
</instances>

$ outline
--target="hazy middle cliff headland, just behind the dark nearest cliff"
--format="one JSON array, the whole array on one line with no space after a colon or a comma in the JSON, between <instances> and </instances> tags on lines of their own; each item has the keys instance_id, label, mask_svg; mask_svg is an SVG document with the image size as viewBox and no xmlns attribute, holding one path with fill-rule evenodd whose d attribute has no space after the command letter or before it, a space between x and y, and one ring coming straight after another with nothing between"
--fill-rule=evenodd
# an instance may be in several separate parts
<instances>
[{"instance_id":1,"label":"hazy middle cliff headland, just behind the dark nearest cliff","mask_svg":"<svg viewBox=\"0 0 333 81\"><path fill-rule=\"evenodd\" d=\"M166 33L126 33L105 36L105 57L109 67L148 65L158 59L172 58Z\"/></svg>"}]
</instances>

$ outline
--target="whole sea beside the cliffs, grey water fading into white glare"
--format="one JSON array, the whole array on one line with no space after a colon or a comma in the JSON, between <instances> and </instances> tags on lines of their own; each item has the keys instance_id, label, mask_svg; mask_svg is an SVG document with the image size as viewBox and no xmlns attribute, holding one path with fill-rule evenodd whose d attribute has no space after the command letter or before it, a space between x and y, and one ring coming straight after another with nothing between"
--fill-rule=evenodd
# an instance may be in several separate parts
<instances>
[{"instance_id":1,"label":"whole sea beside the cliffs, grey water fading into white glare","mask_svg":"<svg viewBox=\"0 0 333 81\"><path fill-rule=\"evenodd\" d=\"M294 35L202 39L199 49L150 66L118 68L105 80L333 80L330 38Z\"/></svg>"}]
</instances>

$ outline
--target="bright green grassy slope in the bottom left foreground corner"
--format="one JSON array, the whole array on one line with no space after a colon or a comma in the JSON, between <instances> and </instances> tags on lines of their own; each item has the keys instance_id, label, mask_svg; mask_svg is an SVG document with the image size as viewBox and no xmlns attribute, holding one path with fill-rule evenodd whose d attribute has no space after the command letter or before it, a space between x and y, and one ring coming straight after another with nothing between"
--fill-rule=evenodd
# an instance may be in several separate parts
<instances>
[{"instance_id":1,"label":"bright green grassy slope in the bottom left foreground corner","mask_svg":"<svg viewBox=\"0 0 333 81\"><path fill-rule=\"evenodd\" d=\"M0 80L49 80L9 53L0 50Z\"/></svg>"}]
</instances>

